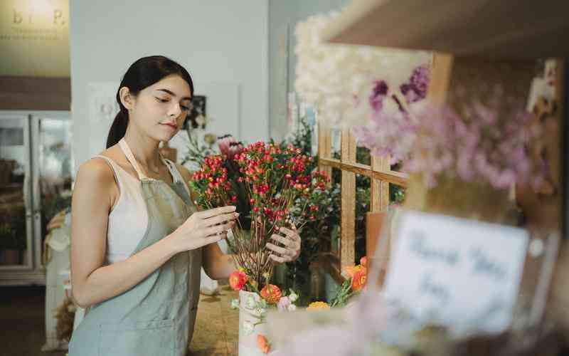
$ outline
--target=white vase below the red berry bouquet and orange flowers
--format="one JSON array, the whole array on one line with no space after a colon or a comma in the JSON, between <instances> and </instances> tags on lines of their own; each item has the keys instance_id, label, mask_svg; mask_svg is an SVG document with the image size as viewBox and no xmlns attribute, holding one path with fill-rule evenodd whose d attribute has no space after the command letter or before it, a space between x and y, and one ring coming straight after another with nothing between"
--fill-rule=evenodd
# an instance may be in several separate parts
<instances>
[{"instance_id":1,"label":"white vase below the red berry bouquet and orange flowers","mask_svg":"<svg viewBox=\"0 0 569 356\"><path fill-rule=\"evenodd\" d=\"M259 323L259 313L255 312L254 308L248 308L248 298L254 298L257 302L260 301L260 295L257 293L246 292L245 290L239 291L239 356L265 356L265 354L257 346L257 335L267 336L266 323ZM252 323L255 328L252 333L249 333L243 327L245 322Z\"/></svg>"}]
</instances>

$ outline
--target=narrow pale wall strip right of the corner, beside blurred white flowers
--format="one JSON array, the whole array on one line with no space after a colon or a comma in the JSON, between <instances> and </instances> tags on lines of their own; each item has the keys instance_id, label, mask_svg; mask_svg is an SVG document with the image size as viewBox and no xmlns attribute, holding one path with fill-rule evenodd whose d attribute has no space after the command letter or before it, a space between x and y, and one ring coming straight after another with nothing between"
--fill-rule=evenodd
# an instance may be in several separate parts
<instances>
[{"instance_id":1,"label":"narrow pale wall strip right of the corner, beside blurred white flowers","mask_svg":"<svg viewBox=\"0 0 569 356\"><path fill-rule=\"evenodd\" d=\"M339 11L349 0L269 0L270 135L279 140L287 127L287 93L294 91L294 27L315 14Z\"/></svg>"}]
</instances>

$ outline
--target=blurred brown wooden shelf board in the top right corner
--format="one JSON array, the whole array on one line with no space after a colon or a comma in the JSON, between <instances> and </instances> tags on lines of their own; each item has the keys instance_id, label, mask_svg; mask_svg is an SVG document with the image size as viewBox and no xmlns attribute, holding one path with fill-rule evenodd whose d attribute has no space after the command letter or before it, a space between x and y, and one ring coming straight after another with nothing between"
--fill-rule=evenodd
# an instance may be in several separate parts
<instances>
[{"instance_id":1,"label":"blurred brown wooden shelf board in the top right corner","mask_svg":"<svg viewBox=\"0 0 569 356\"><path fill-rule=\"evenodd\" d=\"M567 0L353 0L324 40L533 59L569 56Z\"/></svg>"}]
</instances>

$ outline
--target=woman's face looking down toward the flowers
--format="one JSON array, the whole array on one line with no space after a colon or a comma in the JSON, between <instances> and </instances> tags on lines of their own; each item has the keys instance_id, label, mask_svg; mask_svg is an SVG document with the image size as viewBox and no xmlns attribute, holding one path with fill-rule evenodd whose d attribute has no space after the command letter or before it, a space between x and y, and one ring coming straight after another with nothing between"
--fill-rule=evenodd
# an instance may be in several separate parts
<instances>
[{"instance_id":1,"label":"woman's face looking down toward the flowers","mask_svg":"<svg viewBox=\"0 0 569 356\"><path fill-rule=\"evenodd\" d=\"M129 119L152 139L169 141L184 125L191 110L191 95L186 80L169 75L132 98Z\"/></svg>"}]
</instances>

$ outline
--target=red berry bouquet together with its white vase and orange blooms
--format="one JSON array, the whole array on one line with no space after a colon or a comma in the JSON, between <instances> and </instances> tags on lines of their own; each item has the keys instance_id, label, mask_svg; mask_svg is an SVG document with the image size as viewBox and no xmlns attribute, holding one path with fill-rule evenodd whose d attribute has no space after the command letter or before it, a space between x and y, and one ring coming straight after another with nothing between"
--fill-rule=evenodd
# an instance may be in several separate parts
<instances>
[{"instance_id":1,"label":"red berry bouquet together with its white vase and orange blooms","mask_svg":"<svg viewBox=\"0 0 569 356\"><path fill-rule=\"evenodd\" d=\"M223 140L226 140L224 142ZM230 250L240 269L230 284L240 291L240 355L268 350L266 338L255 347L254 337L262 334L266 309L294 310L296 293L284 295L270 284L273 263L267 243L282 227L302 229L312 219L314 199L324 194L329 177L312 172L314 158L292 145L281 147L256 142L247 147L223 137L221 155L206 157L201 170L193 174L191 187L198 194L196 204L206 209L235 204L242 215L233 227ZM312 209L312 210L311 210Z\"/></svg>"}]
</instances>

